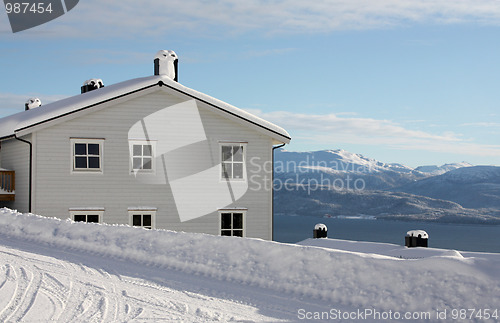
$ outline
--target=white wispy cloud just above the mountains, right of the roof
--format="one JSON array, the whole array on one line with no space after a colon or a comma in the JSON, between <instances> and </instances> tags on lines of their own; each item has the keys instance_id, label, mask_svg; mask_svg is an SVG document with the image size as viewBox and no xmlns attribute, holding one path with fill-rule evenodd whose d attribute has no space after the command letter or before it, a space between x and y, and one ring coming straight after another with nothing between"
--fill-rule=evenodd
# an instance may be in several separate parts
<instances>
[{"instance_id":1,"label":"white wispy cloud just above the mountains, right of the roof","mask_svg":"<svg viewBox=\"0 0 500 323\"><path fill-rule=\"evenodd\" d=\"M436 134L408 129L390 120L341 117L336 114L248 111L283 126L291 132L292 137L309 142L330 145L362 144L403 150L500 156L500 145L475 143L449 131Z\"/></svg>"}]
</instances>

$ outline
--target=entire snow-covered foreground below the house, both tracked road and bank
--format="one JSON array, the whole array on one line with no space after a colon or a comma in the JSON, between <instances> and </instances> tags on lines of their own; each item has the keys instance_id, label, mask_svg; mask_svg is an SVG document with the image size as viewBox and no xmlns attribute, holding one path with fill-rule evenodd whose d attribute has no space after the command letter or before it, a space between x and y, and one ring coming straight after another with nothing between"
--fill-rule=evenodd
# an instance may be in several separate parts
<instances>
[{"instance_id":1,"label":"entire snow-covered foreground below the house, both tracked road and bank","mask_svg":"<svg viewBox=\"0 0 500 323\"><path fill-rule=\"evenodd\" d=\"M332 249L0 209L0 321L290 322L372 309L442 322L438 311L450 321L453 309L500 311L497 254L416 248L418 257L404 255L422 259L408 260L389 252L396 245L342 250L349 242L335 241Z\"/></svg>"}]
</instances>

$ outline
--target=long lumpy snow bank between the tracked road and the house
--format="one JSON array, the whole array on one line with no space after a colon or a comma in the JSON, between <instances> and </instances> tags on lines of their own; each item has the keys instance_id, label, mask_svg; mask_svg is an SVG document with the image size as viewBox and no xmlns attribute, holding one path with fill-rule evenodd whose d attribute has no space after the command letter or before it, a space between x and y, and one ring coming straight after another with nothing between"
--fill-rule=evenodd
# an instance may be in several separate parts
<instances>
[{"instance_id":1,"label":"long lumpy snow bank between the tracked road and the house","mask_svg":"<svg viewBox=\"0 0 500 323\"><path fill-rule=\"evenodd\" d=\"M73 223L5 208L0 209L0 234L344 308L442 311L500 304L500 263L494 259L448 254L404 260L258 239Z\"/></svg>"}]
</instances>

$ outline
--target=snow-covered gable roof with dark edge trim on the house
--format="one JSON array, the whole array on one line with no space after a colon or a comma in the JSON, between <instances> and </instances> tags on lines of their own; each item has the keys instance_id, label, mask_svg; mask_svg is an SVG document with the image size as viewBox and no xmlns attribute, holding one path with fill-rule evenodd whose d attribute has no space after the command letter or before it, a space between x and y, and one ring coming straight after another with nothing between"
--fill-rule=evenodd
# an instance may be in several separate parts
<instances>
[{"instance_id":1,"label":"snow-covered gable roof with dark edge trim on the house","mask_svg":"<svg viewBox=\"0 0 500 323\"><path fill-rule=\"evenodd\" d=\"M27 110L2 118L0 119L0 140L13 137L16 134L25 135L31 133L35 131L38 126L46 124L47 122L54 122L61 117L97 107L103 103L124 98L128 95L151 89L156 86L165 86L166 88L170 88L180 93L181 95L202 101L215 109L258 126L259 128L265 130L273 139L279 142L290 142L290 135L285 129L228 103L183 86L182 84L163 75L137 78L113 84L44 105L39 109Z\"/></svg>"}]
</instances>

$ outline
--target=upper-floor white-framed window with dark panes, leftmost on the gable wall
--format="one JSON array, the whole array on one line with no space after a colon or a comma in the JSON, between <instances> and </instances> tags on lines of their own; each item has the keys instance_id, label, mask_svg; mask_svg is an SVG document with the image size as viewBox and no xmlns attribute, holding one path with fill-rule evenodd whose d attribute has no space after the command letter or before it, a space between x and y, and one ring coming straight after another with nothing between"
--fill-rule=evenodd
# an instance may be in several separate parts
<instances>
[{"instance_id":1,"label":"upper-floor white-framed window with dark panes, leftmost on the gable wall","mask_svg":"<svg viewBox=\"0 0 500 323\"><path fill-rule=\"evenodd\" d=\"M71 170L102 172L104 139L71 138Z\"/></svg>"}]
</instances>

